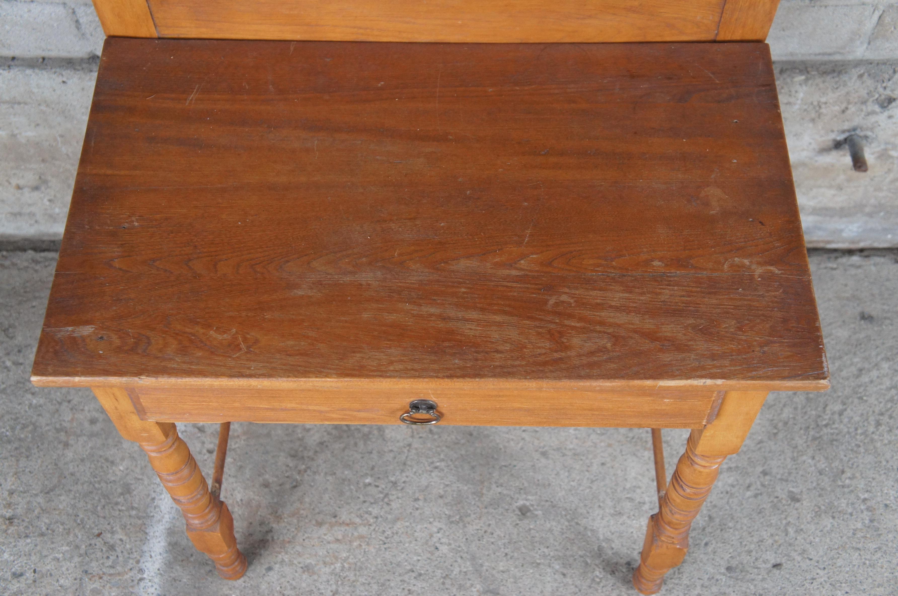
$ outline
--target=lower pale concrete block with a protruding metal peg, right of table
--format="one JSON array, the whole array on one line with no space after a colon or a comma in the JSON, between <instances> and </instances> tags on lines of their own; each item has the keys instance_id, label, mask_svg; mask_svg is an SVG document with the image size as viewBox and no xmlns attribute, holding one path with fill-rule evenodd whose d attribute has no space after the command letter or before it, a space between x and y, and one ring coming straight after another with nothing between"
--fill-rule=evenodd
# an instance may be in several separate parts
<instances>
[{"instance_id":1,"label":"lower pale concrete block with a protruding metal peg, right of table","mask_svg":"<svg viewBox=\"0 0 898 596\"><path fill-rule=\"evenodd\" d=\"M805 236L825 248L898 247L898 61L775 64ZM865 139L854 171L849 133Z\"/></svg>"}]
</instances>

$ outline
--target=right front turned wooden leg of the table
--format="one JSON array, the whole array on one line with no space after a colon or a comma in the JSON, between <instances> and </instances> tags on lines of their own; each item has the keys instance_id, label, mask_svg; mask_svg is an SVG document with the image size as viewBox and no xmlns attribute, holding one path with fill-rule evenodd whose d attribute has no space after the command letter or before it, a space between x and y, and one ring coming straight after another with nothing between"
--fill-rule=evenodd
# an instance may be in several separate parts
<instances>
[{"instance_id":1,"label":"right front turned wooden leg of the table","mask_svg":"<svg viewBox=\"0 0 898 596\"><path fill-rule=\"evenodd\" d=\"M717 480L720 464L742 447L766 397L766 392L727 391L717 417L689 435L658 513L648 518L642 555L633 574L638 592L658 592L665 574L682 563L692 520Z\"/></svg>"}]
</instances>

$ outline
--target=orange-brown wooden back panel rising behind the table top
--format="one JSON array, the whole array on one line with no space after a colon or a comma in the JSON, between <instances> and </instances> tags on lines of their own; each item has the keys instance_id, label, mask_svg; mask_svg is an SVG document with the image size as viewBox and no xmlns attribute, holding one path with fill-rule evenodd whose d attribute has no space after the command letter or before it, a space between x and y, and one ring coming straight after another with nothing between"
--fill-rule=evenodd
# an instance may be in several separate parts
<instances>
[{"instance_id":1,"label":"orange-brown wooden back panel rising behind the table top","mask_svg":"<svg viewBox=\"0 0 898 596\"><path fill-rule=\"evenodd\" d=\"M779 0L93 0L106 35L187 39L762 41Z\"/></svg>"}]
</instances>

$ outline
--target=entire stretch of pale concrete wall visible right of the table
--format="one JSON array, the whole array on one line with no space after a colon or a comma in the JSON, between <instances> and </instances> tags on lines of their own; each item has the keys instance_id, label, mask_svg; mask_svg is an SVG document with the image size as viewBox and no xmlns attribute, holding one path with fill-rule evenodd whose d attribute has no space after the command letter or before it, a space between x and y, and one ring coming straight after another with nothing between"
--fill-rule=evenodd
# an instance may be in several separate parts
<instances>
[{"instance_id":1,"label":"entire stretch of pale concrete wall visible right of the table","mask_svg":"<svg viewBox=\"0 0 898 596\"><path fill-rule=\"evenodd\" d=\"M781 0L767 40L808 245L898 247L898 0Z\"/></svg>"}]
</instances>

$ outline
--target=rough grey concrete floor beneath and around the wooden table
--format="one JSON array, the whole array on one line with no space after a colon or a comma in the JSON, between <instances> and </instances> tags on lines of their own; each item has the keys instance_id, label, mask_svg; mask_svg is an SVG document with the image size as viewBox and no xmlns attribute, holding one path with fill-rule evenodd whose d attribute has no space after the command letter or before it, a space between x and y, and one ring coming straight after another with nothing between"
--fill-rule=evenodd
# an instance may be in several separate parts
<instances>
[{"instance_id":1,"label":"rough grey concrete floor beneath and around the wooden table","mask_svg":"<svg viewBox=\"0 0 898 596\"><path fill-rule=\"evenodd\" d=\"M31 387L54 262L0 253L0 594L636 593L643 429L235 424L219 580L91 393ZM770 396L665 596L898 593L898 256L812 266L832 390ZM208 473L215 426L180 428Z\"/></svg>"}]
</instances>

